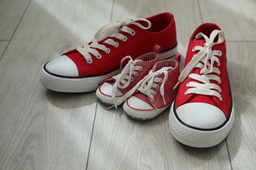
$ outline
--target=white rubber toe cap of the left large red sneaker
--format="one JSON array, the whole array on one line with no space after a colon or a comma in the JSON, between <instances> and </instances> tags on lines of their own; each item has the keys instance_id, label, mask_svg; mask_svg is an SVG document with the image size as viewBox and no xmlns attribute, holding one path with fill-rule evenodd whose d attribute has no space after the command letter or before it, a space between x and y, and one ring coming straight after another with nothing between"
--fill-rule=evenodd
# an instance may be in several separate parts
<instances>
[{"instance_id":1,"label":"white rubber toe cap of the left large red sneaker","mask_svg":"<svg viewBox=\"0 0 256 170\"><path fill-rule=\"evenodd\" d=\"M45 65L47 72L60 76L79 76L78 69L68 56L60 56Z\"/></svg>"}]
</instances>

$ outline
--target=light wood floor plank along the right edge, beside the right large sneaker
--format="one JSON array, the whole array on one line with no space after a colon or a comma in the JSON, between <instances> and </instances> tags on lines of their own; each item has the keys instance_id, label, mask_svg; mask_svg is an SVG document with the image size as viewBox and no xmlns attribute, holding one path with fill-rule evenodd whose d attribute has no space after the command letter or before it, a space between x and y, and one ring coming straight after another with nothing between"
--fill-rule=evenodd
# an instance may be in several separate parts
<instances>
[{"instance_id":1,"label":"light wood floor plank along the right edge, beside the right large sneaker","mask_svg":"<svg viewBox=\"0 0 256 170\"><path fill-rule=\"evenodd\" d=\"M228 135L233 169L256 167L256 42L228 42L228 69L236 120Z\"/></svg>"}]
</instances>

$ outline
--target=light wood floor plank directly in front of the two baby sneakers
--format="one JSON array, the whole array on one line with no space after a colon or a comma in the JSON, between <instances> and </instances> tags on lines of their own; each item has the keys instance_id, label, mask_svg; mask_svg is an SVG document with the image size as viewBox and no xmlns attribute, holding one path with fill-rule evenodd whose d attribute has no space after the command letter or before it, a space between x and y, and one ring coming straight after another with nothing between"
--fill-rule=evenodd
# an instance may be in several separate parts
<instances>
[{"instance_id":1,"label":"light wood floor plank directly in front of the two baby sneakers","mask_svg":"<svg viewBox=\"0 0 256 170\"><path fill-rule=\"evenodd\" d=\"M230 169L225 141L191 148L169 131L169 109L150 121L133 120L123 109L98 105L88 169Z\"/></svg>"}]
</instances>

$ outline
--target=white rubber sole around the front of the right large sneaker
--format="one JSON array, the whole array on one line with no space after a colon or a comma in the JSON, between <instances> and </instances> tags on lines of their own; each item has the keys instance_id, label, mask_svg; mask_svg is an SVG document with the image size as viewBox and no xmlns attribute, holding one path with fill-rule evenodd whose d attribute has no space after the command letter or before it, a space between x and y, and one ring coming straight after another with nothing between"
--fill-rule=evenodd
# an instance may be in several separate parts
<instances>
[{"instance_id":1,"label":"white rubber sole around the front of the right large sneaker","mask_svg":"<svg viewBox=\"0 0 256 170\"><path fill-rule=\"evenodd\" d=\"M188 146L196 148L208 148L215 146L226 138L234 124L234 102L228 122L226 122L223 127L213 131L201 131L185 126L176 118L175 113L173 112L173 105L174 102L171 105L169 114L169 127L171 129L171 134L175 139L177 139L177 141Z\"/></svg>"}]
</instances>

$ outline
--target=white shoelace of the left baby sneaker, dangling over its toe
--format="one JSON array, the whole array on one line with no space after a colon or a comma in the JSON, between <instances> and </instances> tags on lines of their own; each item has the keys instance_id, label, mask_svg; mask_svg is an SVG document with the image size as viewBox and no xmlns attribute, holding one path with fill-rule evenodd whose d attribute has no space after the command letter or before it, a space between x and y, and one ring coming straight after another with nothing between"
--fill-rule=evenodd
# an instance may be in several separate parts
<instances>
[{"instance_id":1,"label":"white shoelace of the left baby sneaker, dangling over its toe","mask_svg":"<svg viewBox=\"0 0 256 170\"><path fill-rule=\"evenodd\" d=\"M112 76L112 78L114 78L116 80L116 82L112 86L112 99L114 101L114 106L116 108L117 108L117 105L119 105L120 101L121 101L121 100L116 101L117 87L118 88L127 88L129 86L130 82L133 81L133 75L137 76L138 75L137 71L142 70L141 66L135 66L136 63L138 63L139 61L142 61L142 60L136 59L133 61L131 56L126 56L125 58L121 59L120 69L121 69L121 67L123 65L123 61L125 61L125 59L129 59L129 61L125 65L125 67L123 68L121 73L119 73L116 76ZM126 96L126 95L123 95L123 96ZM121 99L123 99L122 97L121 97ZM110 107L110 108L112 108L112 107ZM110 109L110 108L108 108L108 109Z\"/></svg>"}]
</instances>

